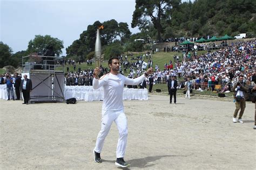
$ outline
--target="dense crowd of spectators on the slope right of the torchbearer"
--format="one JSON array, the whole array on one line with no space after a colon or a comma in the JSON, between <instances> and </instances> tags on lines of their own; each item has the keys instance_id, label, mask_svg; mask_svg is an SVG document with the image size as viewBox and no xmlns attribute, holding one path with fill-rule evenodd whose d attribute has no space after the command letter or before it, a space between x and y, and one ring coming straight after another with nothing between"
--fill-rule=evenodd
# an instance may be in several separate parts
<instances>
[{"instance_id":1,"label":"dense crowd of spectators on the slope right of the torchbearer","mask_svg":"<svg viewBox=\"0 0 256 170\"><path fill-rule=\"evenodd\" d=\"M191 77L194 89L200 87L201 90L213 91L215 85L219 85L217 87L221 92L230 91L240 74L244 75L247 85L253 84L256 76L255 55L255 40L234 43L203 55L187 52L180 58L178 56L174 69L156 71L153 75L154 82L165 82L175 75L180 80L180 86L183 83L181 78L185 81L186 77Z\"/></svg>"}]
</instances>

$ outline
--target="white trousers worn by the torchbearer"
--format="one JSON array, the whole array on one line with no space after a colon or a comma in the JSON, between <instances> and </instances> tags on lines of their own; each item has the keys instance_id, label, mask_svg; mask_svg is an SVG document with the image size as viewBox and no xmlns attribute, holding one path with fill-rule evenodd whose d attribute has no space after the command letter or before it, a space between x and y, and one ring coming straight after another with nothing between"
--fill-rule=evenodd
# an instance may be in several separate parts
<instances>
[{"instance_id":1,"label":"white trousers worn by the torchbearer","mask_svg":"<svg viewBox=\"0 0 256 170\"><path fill-rule=\"evenodd\" d=\"M103 148L104 140L110 131L112 123L116 123L119 138L117 143L117 158L123 158L125 154L125 148L127 143L127 118L124 114L124 110L120 111L102 111L102 128L99 131L95 152L100 153Z\"/></svg>"}]
</instances>

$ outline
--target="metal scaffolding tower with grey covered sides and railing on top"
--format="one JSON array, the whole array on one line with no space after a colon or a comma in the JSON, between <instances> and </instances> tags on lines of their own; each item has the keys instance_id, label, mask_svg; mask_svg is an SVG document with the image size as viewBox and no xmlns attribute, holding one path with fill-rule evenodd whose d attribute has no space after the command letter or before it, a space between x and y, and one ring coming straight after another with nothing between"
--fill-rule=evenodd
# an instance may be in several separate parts
<instances>
[{"instance_id":1,"label":"metal scaffolding tower with grey covered sides and railing on top","mask_svg":"<svg viewBox=\"0 0 256 170\"><path fill-rule=\"evenodd\" d=\"M22 74L32 81L30 102L63 102L64 60L62 57L29 55L22 57Z\"/></svg>"}]
</instances>

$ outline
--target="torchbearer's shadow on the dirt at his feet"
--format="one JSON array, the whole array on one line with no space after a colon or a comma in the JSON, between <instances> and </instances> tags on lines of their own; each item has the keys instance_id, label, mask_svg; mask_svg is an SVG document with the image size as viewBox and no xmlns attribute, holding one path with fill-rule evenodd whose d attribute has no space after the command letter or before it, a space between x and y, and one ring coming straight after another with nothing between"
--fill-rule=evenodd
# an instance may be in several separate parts
<instances>
[{"instance_id":1,"label":"torchbearer's shadow on the dirt at his feet","mask_svg":"<svg viewBox=\"0 0 256 170\"><path fill-rule=\"evenodd\" d=\"M137 168L148 168L148 167L152 167L156 164L154 164L153 162L156 160L159 160L161 158L165 158L165 157L188 157L189 155L159 155L159 156L155 156L155 157L145 157L145 158L139 158L139 159L132 159L132 160L127 160L126 162L128 164L131 164L131 167L137 167ZM110 163L114 163L115 161L112 160L103 160L105 162L110 162ZM149 164L149 162L152 162ZM122 167L118 167L120 169L130 169L129 167L126 168L122 168Z\"/></svg>"}]
</instances>

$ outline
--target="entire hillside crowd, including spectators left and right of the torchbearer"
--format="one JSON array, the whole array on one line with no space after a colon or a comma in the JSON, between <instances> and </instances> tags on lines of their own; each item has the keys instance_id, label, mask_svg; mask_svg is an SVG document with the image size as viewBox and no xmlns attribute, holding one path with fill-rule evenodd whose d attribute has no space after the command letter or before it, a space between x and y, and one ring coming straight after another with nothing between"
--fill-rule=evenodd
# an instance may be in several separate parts
<instances>
[{"instance_id":1,"label":"entire hillside crowd, including spectators left and right of the torchbearer","mask_svg":"<svg viewBox=\"0 0 256 170\"><path fill-rule=\"evenodd\" d=\"M240 74L244 75L246 84L255 81L255 40L239 42L223 47L217 51L208 51L203 55L197 52L187 52L183 56L174 56L174 63L170 60L160 70L154 65L152 74L154 84L166 83L171 76L177 76L179 87L182 88L187 77L191 77L193 89L230 91L232 85L238 81ZM128 60L127 56L120 56L120 73L129 73L127 77L136 78L143 74L148 67L153 67L151 55ZM135 60L135 61L134 61ZM100 67L101 74L109 72L108 68ZM66 75L66 85L92 85L93 69L69 72ZM146 79L149 84L149 80ZM215 86L217 85L217 86Z\"/></svg>"}]
</instances>

